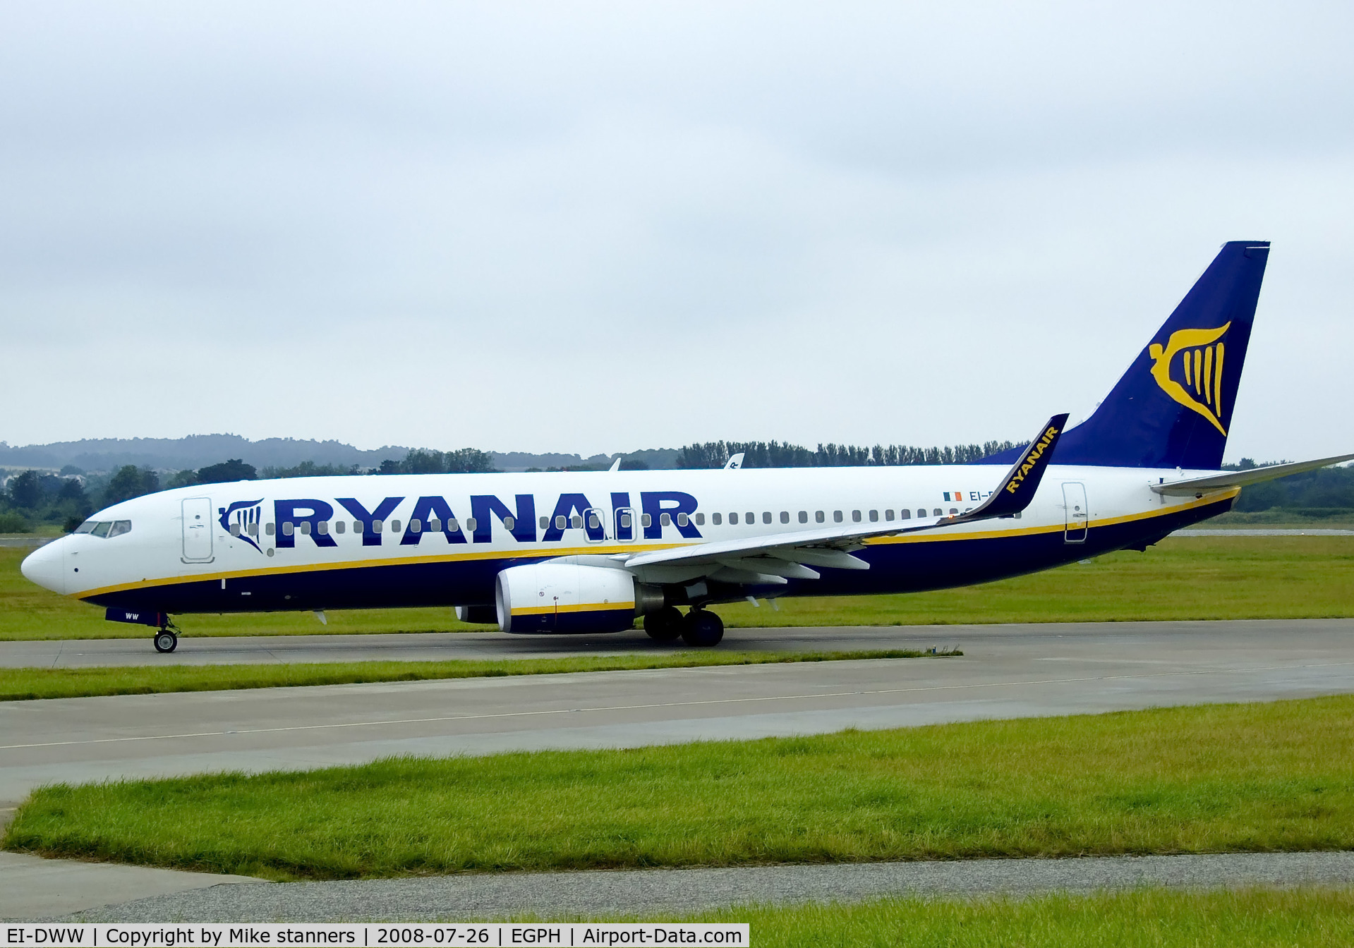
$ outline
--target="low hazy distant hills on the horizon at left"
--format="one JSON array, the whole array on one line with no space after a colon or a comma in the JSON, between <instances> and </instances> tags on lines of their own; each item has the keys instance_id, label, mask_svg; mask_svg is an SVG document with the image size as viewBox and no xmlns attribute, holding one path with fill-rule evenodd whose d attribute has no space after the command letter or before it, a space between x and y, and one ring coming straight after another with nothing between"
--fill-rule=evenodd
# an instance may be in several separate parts
<instances>
[{"instance_id":1,"label":"low hazy distant hills on the horizon at left","mask_svg":"<svg viewBox=\"0 0 1354 948\"><path fill-rule=\"evenodd\" d=\"M123 465L149 467L156 471L198 470L227 458L240 458L256 469L295 467L303 462L337 467L379 467L383 460L402 460L409 454L403 446L386 446L363 451L343 441L301 440L295 437L267 437L250 441L240 435L190 435L188 437L99 437L51 444L12 447L0 441L0 467L37 467L61 470L79 467L95 474L114 471ZM611 465L615 455L527 454L523 451L493 451L494 466L504 471L528 467L582 467ZM676 467L676 448L635 451L627 460L642 460L650 467Z\"/></svg>"}]
</instances>

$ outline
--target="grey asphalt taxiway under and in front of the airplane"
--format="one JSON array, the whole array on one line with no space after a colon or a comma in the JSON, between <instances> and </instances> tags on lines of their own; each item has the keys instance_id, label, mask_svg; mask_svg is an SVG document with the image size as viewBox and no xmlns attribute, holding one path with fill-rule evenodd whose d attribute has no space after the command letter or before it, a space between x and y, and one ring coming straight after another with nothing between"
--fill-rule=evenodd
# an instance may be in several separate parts
<instances>
[{"instance_id":1,"label":"grey asphalt taxiway under and in front of the airplane","mask_svg":"<svg viewBox=\"0 0 1354 948\"><path fill-rule=\"evenodd\" d=\"M336 638L272 639L267 647L303 655L297 661L657 647L642 634ZM416 641L432 638L437 642ZM185 639L167 658L181 662L217 642ZM50 781L298 769L391 754L821 734L1354 691L1349 619L731 630L726 642L730 649L796 650L959 645L964 655L7 702L0 704L0 802ZM246 647L238 639L223 645ZM139 653L137 664L146 664Z\"/></svg>"}]
</instances>

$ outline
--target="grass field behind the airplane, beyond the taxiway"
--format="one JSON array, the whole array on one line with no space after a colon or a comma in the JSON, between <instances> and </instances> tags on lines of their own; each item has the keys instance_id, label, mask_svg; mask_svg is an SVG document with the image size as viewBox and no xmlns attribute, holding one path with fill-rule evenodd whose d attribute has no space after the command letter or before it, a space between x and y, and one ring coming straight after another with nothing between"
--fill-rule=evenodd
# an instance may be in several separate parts
<instances>
[{"instance_id":1,"label":"grass field behind the airplane, beyond the taxiway","mask_svg":"<svg viewBox=\"0 0 1354 948\"><path fill-rule=\"evenodd\" d=\"M0 548L0 641L139 638L103 611L19 574L23 550ZM1354 536L1198 536L1147 553L1112 553L1033 576L930 593L806 597L779 612L746 603L716 609L731 627L911 626L1132 619L1326 619L1354 616ZM448 609L183 616L188 635L482 631Z\"/></svg>"}]
</instances>

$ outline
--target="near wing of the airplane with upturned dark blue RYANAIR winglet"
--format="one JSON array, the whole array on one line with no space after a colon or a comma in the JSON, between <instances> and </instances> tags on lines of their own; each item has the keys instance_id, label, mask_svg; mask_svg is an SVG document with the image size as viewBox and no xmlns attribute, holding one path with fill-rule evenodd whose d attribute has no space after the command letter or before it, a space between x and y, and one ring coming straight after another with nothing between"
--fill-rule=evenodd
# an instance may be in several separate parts
<instances>
[{"instance_id":1,"label":"near wing of the airplane with upturned dark blue RYANAIR winglet","mask_svg":"<svg viewBox=\"0 0 1354 948\"><path fill-rule=\"evenodd\" d=\"M621 563L626 569L708 566L707 574L712 578L745 584L784 584L789 578L816 580L819 574L811 566L869 569L869 563L849 553L858 550L862 540L915 534L923 530L953 527L994 517L1013 517L1024 511L1039 489L1039 482L1053 456L1053 446L1057 444L1066 423L1066 414L1055 414L1049 418L997 489L968 513L913 520L906 527L898 524L825 527L822 530L750 536L741 540L716 540L670 550L654 550L653 553L636 553L626 557ZM620 558L617 557L617 559Z\"/></svg>"}]
</instances>

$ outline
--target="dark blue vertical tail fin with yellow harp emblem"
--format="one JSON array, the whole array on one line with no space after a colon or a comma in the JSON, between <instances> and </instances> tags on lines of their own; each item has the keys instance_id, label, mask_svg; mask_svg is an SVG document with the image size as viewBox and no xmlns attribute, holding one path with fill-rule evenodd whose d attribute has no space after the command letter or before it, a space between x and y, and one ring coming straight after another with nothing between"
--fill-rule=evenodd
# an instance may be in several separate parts
<instances>
[{"instance_id":1,"label":"dark blue vertical tail fin with yellow harp emblem","mask_svg":"<svg viewBox=\"0 0 1354 948\"><path fill-rule=\"evenodd\" d=\"M1053 463L1221 467L1267 259L1267 241L1225 244Z\"/></svg>"}]
</instances>

